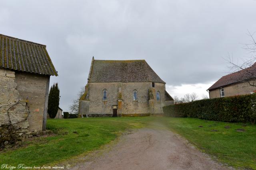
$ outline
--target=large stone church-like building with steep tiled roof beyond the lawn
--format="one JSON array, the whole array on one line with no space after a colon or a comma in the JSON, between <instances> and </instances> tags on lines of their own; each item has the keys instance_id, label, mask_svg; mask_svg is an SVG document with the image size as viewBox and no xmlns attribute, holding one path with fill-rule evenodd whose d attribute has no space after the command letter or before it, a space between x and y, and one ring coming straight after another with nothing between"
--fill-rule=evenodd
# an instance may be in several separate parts
<instances>
[{"instance_id":1,"label":"large stone church-like building with steep tiled roof beyond the lawn","mask_svg":"<svg viewBox=\"0 0 256 170\"><path fill-rule=\"evenodd\" d=\"M163 106L174 104L165 84L145 60L93 57L79 113L89 117L163 114Z\"/></svg>"}]
</instances>

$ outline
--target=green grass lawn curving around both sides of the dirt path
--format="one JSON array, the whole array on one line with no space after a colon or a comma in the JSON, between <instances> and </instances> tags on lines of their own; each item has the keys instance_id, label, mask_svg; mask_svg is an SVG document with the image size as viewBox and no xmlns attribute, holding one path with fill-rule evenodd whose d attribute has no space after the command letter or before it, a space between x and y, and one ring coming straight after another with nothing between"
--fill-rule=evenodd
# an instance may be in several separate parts
<instances>
[{"instance_id":1,"label":"green grass lawn curving around both sides of the dirt path","mask_svg":"<svg viewBox=\"0 0 256 170\"><path fill-rule=\"evenodd\" d=\"M225 129L225 126L230 128ZM168 129L182 135L200 150L216 156L220 162L256 169L256 125L242 127L242 123L193 118L106 117L48 119L47 127L57 135L34 138L27 141L24 147L0 152L0 164L54 165L100 148L116 139L120 131L151 127ZM245 131L237 132L236 129Z\"/></svg>"}]
</instances>

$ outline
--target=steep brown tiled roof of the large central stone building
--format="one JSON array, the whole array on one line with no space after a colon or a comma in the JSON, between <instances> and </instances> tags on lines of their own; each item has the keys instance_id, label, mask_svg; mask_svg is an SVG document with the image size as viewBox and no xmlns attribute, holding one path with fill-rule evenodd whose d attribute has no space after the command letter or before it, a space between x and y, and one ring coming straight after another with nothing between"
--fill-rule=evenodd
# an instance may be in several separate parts
<instances>
[{"instance_id":1,"label":"steep brown tiled roof of the large central stone building","mask_svg":"<svg viewBox=\"0 0 256 170\"><path fill-rule=\"evenodd\" d=\"M165 83L145 60L94 60L88 82Z\"/></svg>"}]
</instances>

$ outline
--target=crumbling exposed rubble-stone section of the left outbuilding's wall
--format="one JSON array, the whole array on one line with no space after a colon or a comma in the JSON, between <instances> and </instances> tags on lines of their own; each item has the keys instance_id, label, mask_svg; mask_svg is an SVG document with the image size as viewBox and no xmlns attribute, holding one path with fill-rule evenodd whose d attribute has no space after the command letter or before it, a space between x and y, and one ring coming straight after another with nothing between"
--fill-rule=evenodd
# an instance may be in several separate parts
<instances>
[{"instance_id":1,"label":"crumbling exposed rubble-stone section of the left outbuilding's wall","mask_svg":"<svg viewBox=\"0 0 256 170\"><path fill-rule=\"evenodd\" d=\"M22 139L29 131L29 109L22 100L15 72L0 68L0 145Z\"/></svg>"}]
</instances>

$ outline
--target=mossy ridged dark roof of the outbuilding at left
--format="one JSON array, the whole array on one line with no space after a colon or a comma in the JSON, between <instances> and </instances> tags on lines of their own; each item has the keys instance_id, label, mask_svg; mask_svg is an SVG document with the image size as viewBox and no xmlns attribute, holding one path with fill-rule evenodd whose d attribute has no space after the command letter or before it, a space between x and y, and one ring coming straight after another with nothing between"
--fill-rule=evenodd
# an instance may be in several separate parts
<instances>
[{"instance_id":1,"label":"mossy ridged dark roof of the outbuilding at left","mask_svg":"<svg viewBox=\"0 0 256 170\"><path fill-rule=\"evenodd\" d=\"M58 76L46 45L0 34L0 68Z\"/></svg>"}]
</instances>

